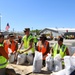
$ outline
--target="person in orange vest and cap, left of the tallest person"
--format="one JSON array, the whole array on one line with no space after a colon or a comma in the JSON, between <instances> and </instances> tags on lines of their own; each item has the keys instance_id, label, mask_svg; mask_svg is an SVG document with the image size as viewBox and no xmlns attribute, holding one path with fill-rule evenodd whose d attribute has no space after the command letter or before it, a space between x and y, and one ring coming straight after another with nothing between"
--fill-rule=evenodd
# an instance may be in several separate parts
<instances>
[{"instance_id":1,"label":"person in orange vest and cap, left of the tallest person","mask_svg":"<svg viewBox=\"0 0 75 75\"><path fill-rule=\"evenodd\" d=\"M13 33L10 33L8 36L8 39L4 41L4 48L5 48L5 51L8 53L8 55L14 54L16 56L16 52L18 49L18 43L14 40Z\"/></svg>"}]
</instances>

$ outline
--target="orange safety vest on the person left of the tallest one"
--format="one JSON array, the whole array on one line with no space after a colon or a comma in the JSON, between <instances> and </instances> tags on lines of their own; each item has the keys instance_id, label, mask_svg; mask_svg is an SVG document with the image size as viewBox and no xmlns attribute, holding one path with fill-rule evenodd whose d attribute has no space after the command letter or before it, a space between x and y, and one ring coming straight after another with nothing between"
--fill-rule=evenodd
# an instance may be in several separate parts
<instances>
[{"instance_id":1,"label":"orange safety vest on the person left of the tallest one","mask_svg":"<svg viewBox=\"0 0 75 75\"><path fill-rule=\"evenodd\" d=\"M12 43L10 43L10 41L9 40L6 40L5 42L4 42L4 48L5 48L5 51L7 52L7 53L9 53L8 52L8 48L10 48L11 50L12 50L12 52L14 52L14 51L16 51L17 50L17 42L16 41L12 41Z\"/></svg>"}]
</instances>

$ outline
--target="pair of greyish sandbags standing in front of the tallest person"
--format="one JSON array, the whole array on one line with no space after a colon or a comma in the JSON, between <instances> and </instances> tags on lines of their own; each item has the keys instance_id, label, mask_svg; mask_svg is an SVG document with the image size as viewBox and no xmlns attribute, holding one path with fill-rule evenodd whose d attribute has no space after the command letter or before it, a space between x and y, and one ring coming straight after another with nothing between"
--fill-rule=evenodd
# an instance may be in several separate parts
<instances>
[{"instance_id":1,"label":"pair of greyish sandbags standing in front of the tallest person","mask_svg":"<svg viewBox=\"0 0 75 75\"><path fill-rule=\"evenodd\" d=\"M17 64L24 64L25 61L28 61L28 63L33 63L33 55L31 53L24 52L24 50L18 50L18 56L17 56Z\"/></svg>"}]
</instances>

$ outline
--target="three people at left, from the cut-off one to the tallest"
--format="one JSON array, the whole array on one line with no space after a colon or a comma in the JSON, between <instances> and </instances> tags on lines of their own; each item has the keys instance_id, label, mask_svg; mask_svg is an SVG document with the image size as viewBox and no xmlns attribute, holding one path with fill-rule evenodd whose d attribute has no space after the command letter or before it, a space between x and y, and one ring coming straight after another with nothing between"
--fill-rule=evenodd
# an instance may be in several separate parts
<instances>
[{"instance_id":1,"label":"three people at left, from the cut-off one to the tallest","mask_svg":"<svg viewBox=\"0 0 75 75\"><path fill-rule=\"evenodd\" d=\"M25 28L24 33L22 41L21 39L16 41L13 33L10 33L7 39L4 40L3 33L0 33L0 75L5 75L6 65L10 56L15 55L17 57L17 50L20 50L22 46L24 46L22 53L26 52L26 55L31 53L34 56L34 38L30 34L30 28ZM21 43L20 47L18 47L18 43Z\"/></svg>"}]
</instances>

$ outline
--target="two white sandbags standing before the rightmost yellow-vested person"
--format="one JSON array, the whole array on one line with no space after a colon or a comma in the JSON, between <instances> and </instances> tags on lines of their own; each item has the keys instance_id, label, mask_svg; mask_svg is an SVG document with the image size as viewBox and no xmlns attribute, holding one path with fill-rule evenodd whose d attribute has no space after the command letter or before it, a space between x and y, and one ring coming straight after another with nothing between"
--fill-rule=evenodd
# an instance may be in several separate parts
<instances>
[{"instance_id":1,"label":"two white sandbags standing before the rightmost yellow-vested person","mask_svg":"<svg viewBox=\"0 0 75 75\"><path fill-rule=\"evenodd\" d=\"M48 56L46 57L46 67L47 70L55 71L55 72L62 70L61 56L57 54L53 58L51 54L48 54Z\"/></svg>"}]
</instances>

